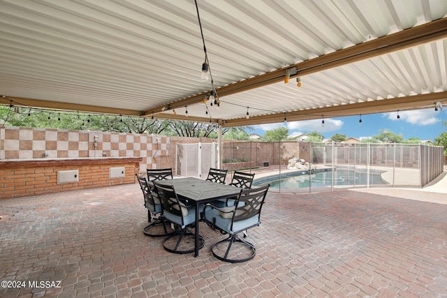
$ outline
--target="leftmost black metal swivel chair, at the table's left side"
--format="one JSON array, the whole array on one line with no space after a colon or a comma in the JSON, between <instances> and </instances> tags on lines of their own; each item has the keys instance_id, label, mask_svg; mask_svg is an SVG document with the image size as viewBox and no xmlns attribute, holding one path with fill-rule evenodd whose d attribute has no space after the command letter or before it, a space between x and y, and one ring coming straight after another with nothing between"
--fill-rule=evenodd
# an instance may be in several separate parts
<instances>
[{"instance_id":1,"label":"leftmost black metal swivel chair, at the table's left side","mask_svg":"<svg viewBox=\"0 0 447 298\"><path fill-rule=\"evenodd\" d=\"M151 191L146 178L140 177L138 174L135 174L135 176L137 177L143 197L145 198L147 221L149 222L149 225L147 225L142 232L150 237L166 237L177 232L171 228L170 223L163 217L163 209L159 197L156 193ZM154 221L152 221L152 219L154 219ZM163 228L163 230L161 230L161 228Z\"/></svg>"}]
</instances>

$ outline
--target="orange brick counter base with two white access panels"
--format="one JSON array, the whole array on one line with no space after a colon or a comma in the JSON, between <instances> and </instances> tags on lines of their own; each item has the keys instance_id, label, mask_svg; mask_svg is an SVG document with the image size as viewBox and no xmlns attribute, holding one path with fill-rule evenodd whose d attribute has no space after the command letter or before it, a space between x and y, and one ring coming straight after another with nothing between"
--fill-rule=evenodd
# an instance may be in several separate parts
<instances>
[{"instance_id":1,"label":"orange brick counter base with two white access panels","mask_svg":"<svg viewBox=\"0 0 447 298\"><path fill-rule=\"evenodd\" d=\"M140 157L54 158L0 161L0 199L135 183ZM110 167L124 167L124 177L109 178ZM78 170L78 182L57 183L57 172Z\"/></svg>"}]
</instances>

